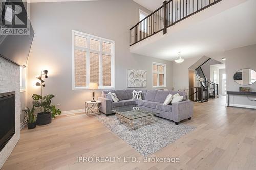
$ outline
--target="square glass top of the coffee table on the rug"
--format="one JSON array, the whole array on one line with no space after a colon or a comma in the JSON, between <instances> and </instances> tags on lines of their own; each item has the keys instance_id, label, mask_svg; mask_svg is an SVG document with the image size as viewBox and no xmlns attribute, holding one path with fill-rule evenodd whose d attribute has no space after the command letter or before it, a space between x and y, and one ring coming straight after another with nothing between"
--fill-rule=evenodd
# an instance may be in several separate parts
<instances>
[{"instance_id":1,"label":"square glass top of the coffee table on the rug","mask_svg":"<svg viewBox=\"0 0 256 170\"><path fill-rule=\"evenodd\" d=\"M154 116L159 113L154 113L150 111L146 111L145 109L139 107L139 106L129 106L129 107L123 107L119 109L112 110L113 112L127 118L130 120L147 117L147 116Z\"/></svg>"}]
</instances>

